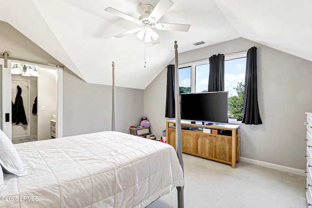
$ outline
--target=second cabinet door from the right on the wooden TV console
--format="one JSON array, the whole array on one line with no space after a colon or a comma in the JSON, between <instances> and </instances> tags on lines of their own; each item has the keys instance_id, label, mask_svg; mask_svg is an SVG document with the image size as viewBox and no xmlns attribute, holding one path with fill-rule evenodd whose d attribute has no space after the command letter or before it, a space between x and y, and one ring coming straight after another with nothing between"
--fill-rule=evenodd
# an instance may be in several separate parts
<instances>
[{"instance_id":1,"label":"second cabinet door from the right on the wooden TV console","mask_svg":"<svg viewBox=\"0 0 312 208\"><path fill-rule=\"evenodd\" d=\"M196 133L196 151L195 154L205 157L213 156L213 138L212 135Z\"/></svg>"}]
</instances>

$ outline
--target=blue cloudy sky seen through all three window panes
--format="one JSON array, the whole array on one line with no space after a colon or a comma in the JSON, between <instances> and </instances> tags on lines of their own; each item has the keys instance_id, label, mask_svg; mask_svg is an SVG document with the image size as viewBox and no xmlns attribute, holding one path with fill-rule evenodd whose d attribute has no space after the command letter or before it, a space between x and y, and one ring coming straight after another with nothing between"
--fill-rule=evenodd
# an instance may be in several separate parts
<instances>
[{"instance_id":1,"label":"blue cloudy sky seen through all three window panes","mask_svg":"<svg viewBox=\"0 0 312 208\"><path fill-rule=\"evenodd\" d=\"M233 88L237 82L245 82L246 57L225 61L224 63L225 91L229 96L237 95ZM195 92L202 92L208 88L209 64L197 65L195 68ZM191 67L179 70L180 87L191 87Z\"/></svg>"}]
</instances>

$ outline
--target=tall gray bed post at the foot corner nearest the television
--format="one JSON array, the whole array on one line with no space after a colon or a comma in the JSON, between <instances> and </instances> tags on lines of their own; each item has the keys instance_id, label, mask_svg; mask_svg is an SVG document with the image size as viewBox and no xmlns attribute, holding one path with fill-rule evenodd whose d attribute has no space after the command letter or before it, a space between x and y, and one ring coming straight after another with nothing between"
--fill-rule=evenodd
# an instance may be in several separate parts
<instances>
[{"instance_id":1,"label":"tall gray bed post at the foot corner nearest the television","mask_svg":"<svg viewBox=\"0 0 312 208\"><path fill-rule=\"evenodd\" d=\"M177 59L177 44L175 41L175 101L176 101L176 154L180 162L180 166L184 173L182 158L182 139L181 139L181 114L180 114L180 90L179 90L179 66ZM184 186L176 187L177 189L177 206L184 208Z\"/></svg>"}]
</instances>

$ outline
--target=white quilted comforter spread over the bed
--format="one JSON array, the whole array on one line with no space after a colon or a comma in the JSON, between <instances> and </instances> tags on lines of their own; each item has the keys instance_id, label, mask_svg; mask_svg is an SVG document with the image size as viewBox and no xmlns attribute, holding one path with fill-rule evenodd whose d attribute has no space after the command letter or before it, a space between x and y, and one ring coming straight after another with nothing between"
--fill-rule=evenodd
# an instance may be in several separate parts
<instances>
[{"instance_id":1,"label":"white quilted comforter spread over the bed","mask_svg":"<svg viewBox=\"0 0 312 208\"><path fill-rule=\"evenodd\" d=\"M98 132L15 145L26 176L4 173L0 207L146 207L183 173L170 145Z\"/></svg>"}]
</instances>

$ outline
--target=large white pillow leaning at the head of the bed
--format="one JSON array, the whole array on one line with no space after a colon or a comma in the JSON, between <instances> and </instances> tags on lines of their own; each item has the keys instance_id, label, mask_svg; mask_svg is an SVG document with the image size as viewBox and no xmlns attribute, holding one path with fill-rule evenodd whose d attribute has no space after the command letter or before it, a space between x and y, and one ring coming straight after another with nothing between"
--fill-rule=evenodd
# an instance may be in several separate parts
<instances>
[{"instance_id":1,"label":"large white pillow leaning at the head of the bed","mask_svg":"<svg viewBox=\"0 0 312 208\"><path fill-rule=\"evenodd\" d=\"M23 162L20 159L20 155L2 130L0 130L0 164L9 173L18 176L27 174L27 170L23 170Z\"/></svg>"}]
</instances>

